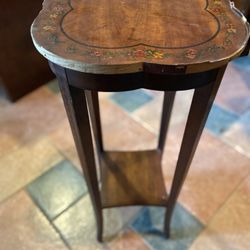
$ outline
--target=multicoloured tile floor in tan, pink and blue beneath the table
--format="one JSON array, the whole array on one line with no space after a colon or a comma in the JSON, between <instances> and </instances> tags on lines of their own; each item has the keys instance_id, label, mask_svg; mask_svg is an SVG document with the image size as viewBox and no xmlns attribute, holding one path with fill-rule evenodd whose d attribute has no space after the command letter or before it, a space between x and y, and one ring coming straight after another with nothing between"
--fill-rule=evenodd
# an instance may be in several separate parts
<instances>
[{"instance_id":1,"label":"multicoloured tile floor in tan, pink and blue beneath the table","mask_svg":"<svg viewBox=\"0 0 250 250\"><path fill-rule=\"evenodd\" d=\"M162 208L126 207L104 210L105 242L99 244L56 81L15 104L0 97L0 249L249 249L249 76L249 57L230 63L179 197L170 240L162 233ZM191 97L192 91L176 97L162 162L167 187ZM105 148L155 147L160 92L102 93L100 102Z\"/></svg>"}]
</instances>

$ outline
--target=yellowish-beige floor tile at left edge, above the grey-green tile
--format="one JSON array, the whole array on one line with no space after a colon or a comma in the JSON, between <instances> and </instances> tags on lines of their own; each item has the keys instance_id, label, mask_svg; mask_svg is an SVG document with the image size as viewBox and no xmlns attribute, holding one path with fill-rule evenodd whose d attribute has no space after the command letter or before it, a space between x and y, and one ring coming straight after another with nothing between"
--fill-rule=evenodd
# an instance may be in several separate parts
<instances>
[{"instance_id":1,"label":"yellowish-beige floor tile at left edge, above the grey-green tile","mask_svg":"<svg viewBox=\"0 0 250 250\"><path fill-rule=\"evenodd\" d=\"M47 138L25 144L0 158L0 201L61 160Z\"/></svg>"}]
</instances>

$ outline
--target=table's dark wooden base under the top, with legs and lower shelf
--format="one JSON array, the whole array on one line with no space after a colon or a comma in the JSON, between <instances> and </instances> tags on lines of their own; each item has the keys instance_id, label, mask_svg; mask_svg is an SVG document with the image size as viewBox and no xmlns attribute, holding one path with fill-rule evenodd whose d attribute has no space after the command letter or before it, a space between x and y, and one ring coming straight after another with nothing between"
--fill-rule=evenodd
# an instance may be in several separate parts
<instances>
[{"instance_id":1,"label":"table's dark wooden base under the top, with legs and lower shelf","mask_svg":"<svg viewBox=\"0 0 250 250\"><path fill-rule=\"evenodd\" d=\"M106 152L103 150L101 136L101 121L99 113L99 103L97 92L84 90L85 73L79 73L79 78L75 79L75 71L64 69L56 64L50 64L52 71L57 75L61 92L68 112L68 117L72 127L79 158L83 166L90 196L94 205L98 239L102 240L102 209L128 206L128 205L156 205L167 207L165 231L169 236L169 225L178 197L181 185L191 163L195 148L200 138L201 131L206 121L212 101L215 98L216 90L219 86L225 66L221 69L199 73L202 86L197 86L185 135L180 151L179 161L170 196L165 190L164 178L161 170L161 157L167 135L170 115L175 97L175 91L165 91L168 85L161 87L165 91L161 130L159 144L156 150L142 152ZM87 74L88 75L88 74ZM80 77L82 76L82 77ZM120 75L123 82L124 75ZM137 74L131 74L137 79ZM155 80L159 75L151 75ZM185 75L189 79L189 75ZM202 77L203 76L203 77ZM205 76L207 78L205 78ZM88 75L91 79L90 75ZM96 75L92 75L95 79ZM181 75L163 75L164 80L170 79L175 83L184 81ZM112 82L112 75L107 75L106 80ZM93 80L92 79L92 80ZM125 79L126 76L125 76ZM181 79L181 80L180 80ZM191 78L192 79L192 78ZM79 81L78 88L74 86L75 81ZM118 78L116 84L119 85ZM206 80L206 81L205 81ZM133 82L133 80L132 80ZM188 83L188 82L187 82ZM130 88L127 82L127 88ZM182 85L180 85L181 87ZM107 85L107 91L111 91L112 85ZM178 90L178 85L175 86ZM87 105L87 106L86 106ZM93 137L91 137L90 123L92 124ZM94 162L93 141L96 142L98 157L100 160L101 189L98 189L97 165ZM88 160L87 160L88 159Z\"/></svg>"}]
</instances>

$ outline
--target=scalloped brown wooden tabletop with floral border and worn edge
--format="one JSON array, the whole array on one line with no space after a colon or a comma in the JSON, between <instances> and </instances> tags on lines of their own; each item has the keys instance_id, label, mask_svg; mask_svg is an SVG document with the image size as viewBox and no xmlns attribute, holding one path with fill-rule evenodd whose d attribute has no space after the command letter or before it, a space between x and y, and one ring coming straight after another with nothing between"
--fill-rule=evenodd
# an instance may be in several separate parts
<instances>
[{"instance_id":1,"label":"scalloped brown wooden tabletop with floral border and worn edge","mask_svg":"<svg viewBox=\"0 0 250 250\"><path fill-rule=\"evenodd\" d=\"M249 25L229 0L45 0L31 34L49 61L80 72L183 74L238 56Z\"/></svg>"}]
</instances>

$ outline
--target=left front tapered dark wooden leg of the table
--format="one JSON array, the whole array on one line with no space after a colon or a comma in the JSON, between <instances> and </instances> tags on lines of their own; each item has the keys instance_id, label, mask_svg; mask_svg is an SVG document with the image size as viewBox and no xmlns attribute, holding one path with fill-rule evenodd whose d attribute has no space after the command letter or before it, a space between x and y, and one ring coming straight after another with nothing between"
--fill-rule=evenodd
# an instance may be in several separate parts
<instances>
[{"instance_id":1,"label":"left front tapered dark wooden leg of the table","mask_svg":"<svg viewBox=\"0 0 250 250\"><path fill-rule=\"evenodd\" d=\"M103 217L97 180L96 162L86 101L86 93L73 87L67 80L65 69L54 65L65 109L70 121L76 148L83 168L85 180L92 200L97 222L97 239L102 241Z\"/></svg>"}]
</instances>

